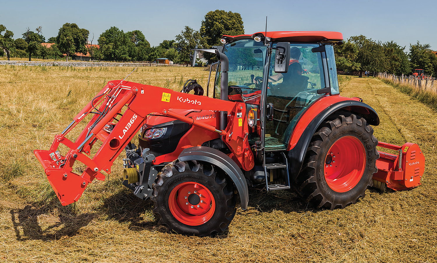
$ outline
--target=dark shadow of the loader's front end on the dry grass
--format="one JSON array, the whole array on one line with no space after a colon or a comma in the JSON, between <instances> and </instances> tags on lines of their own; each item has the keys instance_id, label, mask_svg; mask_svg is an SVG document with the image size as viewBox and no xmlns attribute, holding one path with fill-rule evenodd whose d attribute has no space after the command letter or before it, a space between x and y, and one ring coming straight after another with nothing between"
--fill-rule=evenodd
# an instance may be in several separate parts
<instances>
[{"instance_id":1,"label":"dark shadow of the loader's front end on the dry grass","mask_svg":"<svg viewBox=\"0 0 437 263\"><path fill-rule=\"evenodd\" d=\"M75 236L96 217L96 213L77 214L74 205L61 206L55 201L57 198L49 204L32 203L10 210L17 240L57 240Z\"/></svg>"}]
</instances>

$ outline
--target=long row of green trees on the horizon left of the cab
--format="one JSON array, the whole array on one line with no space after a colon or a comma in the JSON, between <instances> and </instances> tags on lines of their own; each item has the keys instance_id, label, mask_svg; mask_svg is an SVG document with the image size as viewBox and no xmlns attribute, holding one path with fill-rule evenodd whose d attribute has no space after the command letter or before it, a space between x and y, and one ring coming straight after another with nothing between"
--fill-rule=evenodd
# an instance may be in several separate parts
<instances>
[{"instance_id":1,"label":"long row of green trees on the horizon left of the cab","mask_svg":"<svg viewBox=\"0 0 437 263\"><path fill-rule=\"evenodd\" d=\"M156 58L168 58L174 63L190 63L190 49L211 48L220 44L223 34L244 34L243 19L239 13L225 10L209 11L201 23L201 28L195 30L185 26L180 34L172 40L163 40L157 46L150 46L146 36L140 30L124 32L118 27L110 27L94 42L90 32L78 27L75 23L65 23L59 28L57 36L45 39L42 27L35 31L27 28L22 38L14 39L14 33L0 25L0 55L24 58L58 59L66 54L66 60L75 53L90 54L93 60L108 61L155 61ZM94 43L93 43L94 42ZM52 43L52 44L41 44ZM99 48L95 44L99 45ZM6 54L2 54L3 51ZM212 59L212 58L210 58Z\"/></svg>"}]
</instances>

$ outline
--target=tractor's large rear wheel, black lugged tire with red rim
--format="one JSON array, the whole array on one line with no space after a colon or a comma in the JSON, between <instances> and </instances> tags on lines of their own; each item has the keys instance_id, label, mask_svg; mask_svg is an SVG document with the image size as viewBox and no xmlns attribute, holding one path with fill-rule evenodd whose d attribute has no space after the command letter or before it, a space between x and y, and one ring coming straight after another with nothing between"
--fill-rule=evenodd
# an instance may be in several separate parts
<instances>
[{"instance_id":1,"label":"tractor's large rear wheel, black lugged tire with red rim","mask_svg":"<svg viewBox=\"0 0 437 263\"><path fill-rule=\"evenodd\" d=\"M333 116L314 133L295 189L317 208L355 204L378 171L377 145L373 128L360 116Z\"/></svg>"}]
</instances>

